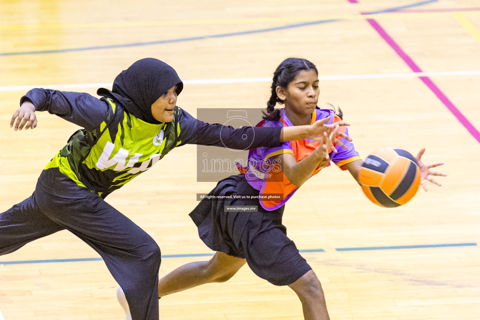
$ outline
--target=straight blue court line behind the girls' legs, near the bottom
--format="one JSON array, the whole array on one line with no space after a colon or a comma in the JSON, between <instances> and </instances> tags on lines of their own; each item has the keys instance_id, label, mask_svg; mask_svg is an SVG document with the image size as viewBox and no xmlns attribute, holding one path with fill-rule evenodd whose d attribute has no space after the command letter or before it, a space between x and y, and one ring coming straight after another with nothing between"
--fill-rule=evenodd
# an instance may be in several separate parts
<instances>
[{"instance_id":1,"label":"straight blue court line behind the girls' legs, near the bottom","mask_svg":"<svg viewBox=\"0 0 480 320\"><path fill-rule=\"evenodd\" d=\"M357 247L357 248L335 248L336 251L364 251L364 250L384 250L384 249L418 249L418 248L451 248L478 246L476 242L467 243L447 243L435 245L411 245L411 246L388 246L388 247ZM300 253L325 252L324 249L301 249ZM190 257L213 257L214 253L187 253L187 254L166 254L164 258L190 258ZM54 263L54 262L83 262L83 261L103 261L102 258L75 258L75 259L48 259L48 260L20 260L20 261L0 261L0 265L9 264L31 264L31 263ZM1 319L0 319L1 320Z\"/></svg>"}]
</instances>

